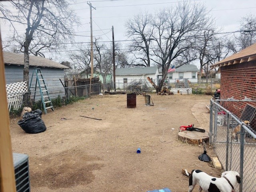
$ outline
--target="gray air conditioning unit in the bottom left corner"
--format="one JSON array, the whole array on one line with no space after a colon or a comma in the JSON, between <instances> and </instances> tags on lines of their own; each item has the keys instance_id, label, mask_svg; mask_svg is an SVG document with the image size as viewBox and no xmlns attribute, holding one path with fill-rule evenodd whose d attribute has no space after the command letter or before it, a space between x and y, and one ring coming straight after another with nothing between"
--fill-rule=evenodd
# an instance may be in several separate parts
<instances>
[{"instance_id":1,"label":"gray air conditioning unit in the bottom left corner","mask_svg":"<svg viewBox=\"0 0 256 192\"><path fill-rule=\"evenodd\" d=\"M30 192L28 156L13 153L14 174L17 192Z\"/></svg>"}]
</instances>

